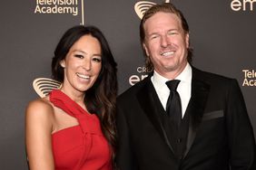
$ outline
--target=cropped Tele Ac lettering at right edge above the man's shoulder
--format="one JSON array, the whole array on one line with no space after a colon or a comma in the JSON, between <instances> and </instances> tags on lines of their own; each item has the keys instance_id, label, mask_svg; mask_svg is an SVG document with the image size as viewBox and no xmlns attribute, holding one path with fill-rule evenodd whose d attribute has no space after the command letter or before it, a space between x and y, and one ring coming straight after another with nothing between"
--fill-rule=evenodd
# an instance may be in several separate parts
<instances>
[{"instance_id":1,"label":"cropped Tele Ac lettering at right edge above the man's shoulder","mask_svg":"<svg viewBox=\"0 0 256 170\"><path fill-rule=\"evenodd\" d=\"M242 86L245 87L256 87L256 71L255 70L249 70L249 69L244 69L242 70L243 72L243 82Z\"/></svg>"}]
</instances>

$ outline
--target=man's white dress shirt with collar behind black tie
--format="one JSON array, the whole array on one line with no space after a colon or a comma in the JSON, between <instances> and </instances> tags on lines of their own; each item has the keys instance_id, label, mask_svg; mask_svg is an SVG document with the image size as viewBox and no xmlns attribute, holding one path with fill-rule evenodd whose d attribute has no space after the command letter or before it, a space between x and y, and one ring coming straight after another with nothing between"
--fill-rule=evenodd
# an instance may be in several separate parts
<instances>
[{"instance_id":1,"label":"man's white dress shirt with collar behind black tie","mask_svg":"<svg viewBox=\"0 0 256 170\"><path fill-rule=\"evenodd\" d=\"M165 84L168 79L162 77L156 71L153 71L153 76L151 78L153 82L153 87L156 90L156 93L162 103L162 107L166 109L167 99L170 94L170 90ZM181 80L178 85L177 91L180 95L182 102L182 118L184 117L185 111L188 107L189 101L191 99L192 94L192 67L189 63L187 63L185 69L179 74L175 80Z\"/></svg>"}]
</instances>

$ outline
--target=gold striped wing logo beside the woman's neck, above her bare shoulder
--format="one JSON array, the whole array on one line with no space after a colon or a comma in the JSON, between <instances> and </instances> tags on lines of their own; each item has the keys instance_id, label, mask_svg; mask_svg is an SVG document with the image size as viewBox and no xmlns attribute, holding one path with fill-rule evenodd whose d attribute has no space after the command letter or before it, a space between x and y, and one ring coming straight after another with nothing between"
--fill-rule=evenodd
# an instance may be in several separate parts
<instances>
[{"instance_id":1,"label":"gold striped wing logo beside the woman's neck, above her bare shoulder","mask_svg":"<svg viewBox=\"0 0 256 170\"><path fill-rule=\"evenodd\" d=\"M57 80L52 80L48 78L37 78L33 81L33 87L35 92L44 98L49 92L61 87L61 83Z\"/></svg>"}]
</instances>

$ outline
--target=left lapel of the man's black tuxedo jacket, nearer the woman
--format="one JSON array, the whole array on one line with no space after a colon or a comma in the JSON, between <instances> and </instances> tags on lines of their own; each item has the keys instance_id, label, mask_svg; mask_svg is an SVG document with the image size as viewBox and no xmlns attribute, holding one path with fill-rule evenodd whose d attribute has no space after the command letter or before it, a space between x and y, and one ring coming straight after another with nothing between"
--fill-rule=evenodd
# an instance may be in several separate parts
<instances>
[{"instance_id":1,"label":"left lapel of the man's black tuxedo jacket, nearer the woman","mask_svg":"<svg viewBox=\"0 0 256 170\"><path fill-rule=\"evenodd\" d=\"M162 127L162 121L160 118L160 114L164 112L164 109L162 108L161 101L159 100L156 91L153 88L153 83L150 80L150 76L146 79L147 82L145 83L144 87L137 93L137 99L144 113L152 122L153 127L156 128L162 139L165 141L167 146L169 146L173 153L172 146L168 140L164 127Z\"/></svg>"}]
</instances>

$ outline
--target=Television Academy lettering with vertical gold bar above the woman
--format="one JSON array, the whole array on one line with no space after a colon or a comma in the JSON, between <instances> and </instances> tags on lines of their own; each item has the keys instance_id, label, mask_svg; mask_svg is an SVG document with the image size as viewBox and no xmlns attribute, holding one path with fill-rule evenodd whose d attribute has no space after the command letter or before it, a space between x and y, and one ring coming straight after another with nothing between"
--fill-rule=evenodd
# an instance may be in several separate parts
<instances>
[{"instance_id":1,"label":"Television Academy lettering with vertical gold bar above the woman","mask_svg":"<svg viewBox=\"0 0 256 170\"><path fill-rule=\"evenodd\" d=\"M84 24L84 0L35 0L34 14L81 14Z\"/></svg>"}]
</instances>

